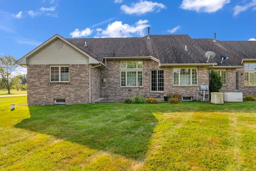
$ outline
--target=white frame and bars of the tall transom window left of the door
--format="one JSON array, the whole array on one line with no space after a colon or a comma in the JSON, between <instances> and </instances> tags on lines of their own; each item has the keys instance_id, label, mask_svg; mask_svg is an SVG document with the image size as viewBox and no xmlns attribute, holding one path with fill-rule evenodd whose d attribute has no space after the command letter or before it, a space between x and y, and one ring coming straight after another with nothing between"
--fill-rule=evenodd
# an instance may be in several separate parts
<instances>
[{"instance_id":1,"label":"white frame and bars of the tall transom window left of the door","mask_svg":"<svg viewBox=\"0 0 256 171\"><path fill-rule=\"evenodd\" d=\"M125 66L124 66L124 62L125 62ZM128 62L136 62L136 68L127 68L128 67ZM120 87L138 87L138 86L142 86L142 78L143 78L143 63L142 61L121 61L120 62ZM125 85L123 85L124 83L122 81L122 75L125 72ZM136 72L136 85L129 85L127 84L127 74L129 74L129 72ZM141 77L139 77L141 74ZM138 83L139 82L139 83Z\"/></svg>"}]
</instances>

